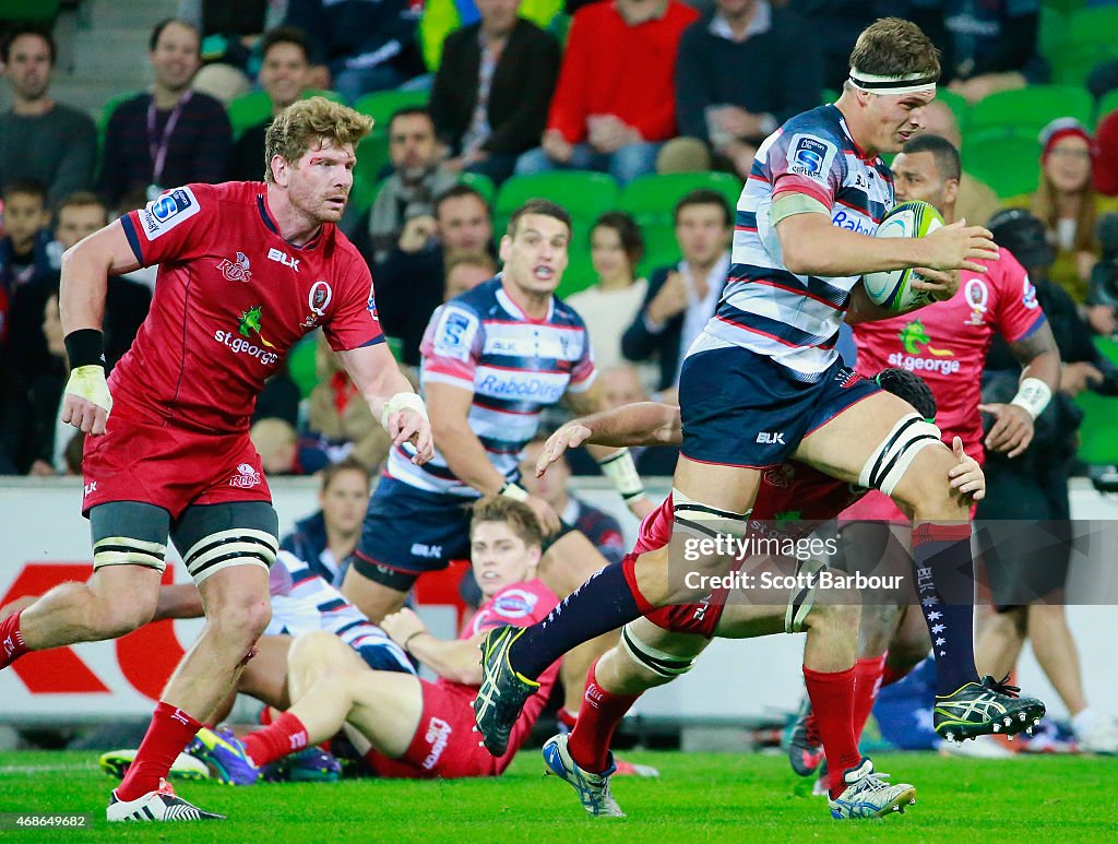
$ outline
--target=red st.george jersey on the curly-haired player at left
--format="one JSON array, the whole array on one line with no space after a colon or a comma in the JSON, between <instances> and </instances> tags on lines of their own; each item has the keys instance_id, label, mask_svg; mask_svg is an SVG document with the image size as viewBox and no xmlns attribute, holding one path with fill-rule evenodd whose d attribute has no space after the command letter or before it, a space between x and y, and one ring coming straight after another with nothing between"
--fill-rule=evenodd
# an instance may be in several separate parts
<instances>
[{"instance_id":1,"label":"red st.george jersey on the curly-haired player at left","mask_svg":"<svg viewBox=\"0 0 1118 844\"><path fill-rule=\"evenodd\" d=\"M188 184L121 218L159 264L151 312L113 370L117 407L203 433L248 429L264 381L321 326L334 350L383 342L369 267L333 224L280 236L262 182Z\"/></svg>"}]
</instances>

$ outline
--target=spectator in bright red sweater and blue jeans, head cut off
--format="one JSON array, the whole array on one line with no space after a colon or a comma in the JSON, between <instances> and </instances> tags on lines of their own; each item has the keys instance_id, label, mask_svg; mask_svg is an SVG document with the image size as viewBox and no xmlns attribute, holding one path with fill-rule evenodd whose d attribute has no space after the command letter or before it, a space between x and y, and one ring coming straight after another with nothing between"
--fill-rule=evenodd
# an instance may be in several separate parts
<instances>
[{"instance_id":1,"label":"spectator in bright red sweater and blue jeans, head cut off","mask_svg":"<svg viewBox=\"0 0 1118 844\"><path fill-rule=\"evenodd\" d=\"M699 13L679 0L615 0L575 12L548 127L518 173L600 170L625 184L654 170L675 130L675 56Z\"/></svg>"}]
</instances>

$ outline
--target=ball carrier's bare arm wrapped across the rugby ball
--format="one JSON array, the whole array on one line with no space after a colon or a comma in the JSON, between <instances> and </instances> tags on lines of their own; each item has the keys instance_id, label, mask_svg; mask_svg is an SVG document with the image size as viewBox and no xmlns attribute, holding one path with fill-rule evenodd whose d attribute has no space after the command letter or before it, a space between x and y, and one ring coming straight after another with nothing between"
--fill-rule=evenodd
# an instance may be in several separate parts
<instances>
[{"instance_id":1,"label":"ball carrier's bare arm wrapped across the rugby ball","mask_svg":"<svg viewBox=\"0 0 1118 844\"><path fill-rule=\"evenodd\" d=\"M783 216L789 201L804 211ZM871 237L832 226L823 203L799 193L779 195L773 214L785 266L796 275L850 276L906 267L985 273L976 262L997 257L989 231L963 221L921 238Z\"/></svg>"}]
</instances>

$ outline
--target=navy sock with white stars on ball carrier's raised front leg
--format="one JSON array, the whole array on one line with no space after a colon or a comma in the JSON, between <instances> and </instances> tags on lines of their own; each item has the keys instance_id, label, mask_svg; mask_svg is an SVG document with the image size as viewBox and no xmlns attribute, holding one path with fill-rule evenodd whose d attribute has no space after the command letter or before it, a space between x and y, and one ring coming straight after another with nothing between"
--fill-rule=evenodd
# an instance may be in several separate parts
<instances>
[{"instance_id":1,"label":"navy sock with white stars on ball carrier's raised front leg","mask_svg":"<svg viewBox=\"0 0 1118 844\"><path fill-rule=\"evenodd\" d=\"M919 525L912 531L912 562L936 660L936 694L947 695L978 680L970 525Z\"/></svg>"}]
</instances>

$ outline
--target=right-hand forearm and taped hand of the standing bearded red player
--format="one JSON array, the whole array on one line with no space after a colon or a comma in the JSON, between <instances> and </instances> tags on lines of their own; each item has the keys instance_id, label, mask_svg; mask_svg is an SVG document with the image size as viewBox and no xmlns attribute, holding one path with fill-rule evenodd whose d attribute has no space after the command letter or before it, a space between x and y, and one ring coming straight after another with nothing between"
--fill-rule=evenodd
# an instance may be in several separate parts
<instances>
[{"instance_id":1,"label":"right-hand forearm and taped hand of the standing bearded red player","mask_svg":"<svg viewBox=\"0 0 1118 844\"><path fill-rule=\"evenodd\" d=\"M435 453L430 421L423 400L388 351L386 343L338 353L358 390L364 396L375 419L380 419L394 445L410 443L411 462L426 463Z\"/></svg>"}]
</instances>

